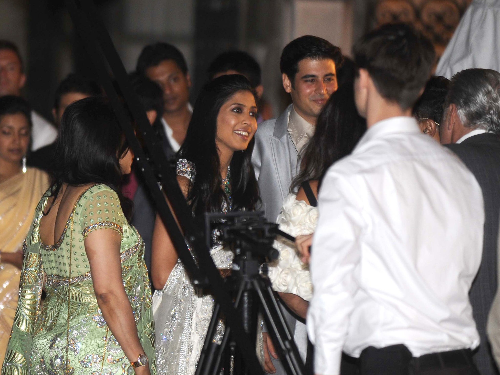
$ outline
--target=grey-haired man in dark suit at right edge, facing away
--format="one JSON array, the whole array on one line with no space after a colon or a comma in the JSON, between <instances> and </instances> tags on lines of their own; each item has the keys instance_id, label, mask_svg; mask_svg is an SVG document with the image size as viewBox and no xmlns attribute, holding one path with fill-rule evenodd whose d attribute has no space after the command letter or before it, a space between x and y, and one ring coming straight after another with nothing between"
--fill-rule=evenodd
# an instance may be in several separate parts
<instances>
[{"instance_id":1,"label":"grey-haired man in dark suit at right edge, facing away","mask_svg":"<svg viewBox=\"0 0 500 375\"><path fill-rule=\"evenodd\" d=\"M490 69L466 69L456 73L451 78L444 108L444 121L439 126L441 143L456 153L474 174L484 198L482 259L469 293L481 340L473 359L481 374L497 374L486 337L486 321L497 287L500 73Z\"/></svg>"}]
</instances>

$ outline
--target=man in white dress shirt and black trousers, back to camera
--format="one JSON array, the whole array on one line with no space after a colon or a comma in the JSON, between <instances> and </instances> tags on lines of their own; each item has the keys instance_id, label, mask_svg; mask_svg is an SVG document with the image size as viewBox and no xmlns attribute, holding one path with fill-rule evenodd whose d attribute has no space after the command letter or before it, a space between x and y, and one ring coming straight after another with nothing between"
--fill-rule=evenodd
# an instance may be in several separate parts
<instances>
[{"instance_id":1,"label":"man in white dress shirt and black trousers, back to camera","mask_svg":"<svg viewBox=\"0 0 500 375\"><path fill-rule=\"evenodd\" d=\"M468 291L481 260L481 190L410 117L432 46L410 26L384 25L354 57L368 129L319 192L306 319L314 372L337 375L343 349L361 375L477 374Z\"/></svg>"}]
</instances>

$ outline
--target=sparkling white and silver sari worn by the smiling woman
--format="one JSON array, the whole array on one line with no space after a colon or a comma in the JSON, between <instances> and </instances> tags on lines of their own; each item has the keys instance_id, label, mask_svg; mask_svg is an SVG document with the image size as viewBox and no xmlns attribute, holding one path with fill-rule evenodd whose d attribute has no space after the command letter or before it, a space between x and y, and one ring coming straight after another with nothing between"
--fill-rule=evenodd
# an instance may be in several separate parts
<instances>
[{"instance_id":1,"label":"sparkling white and silver sari worn by the smiling woman","mask_svg":"<svg viewBox=\"0 0 500 375\"><path fill-rule=\"evenodd\" d=\"M176 171L191 181L196 174L194 164L185 159L177 162ZM224 203L221 211L227 210ZM228 268L232 264L232 251L220 243L210 248L210 255L217 268ZM153 295L158 374L194 374L213 305L213 297L192 285L182 262L177 260L163 289L156 290ZM215 337L219 342L223 331L224 325L219 321Z\"/></svg>"}]
</instances>

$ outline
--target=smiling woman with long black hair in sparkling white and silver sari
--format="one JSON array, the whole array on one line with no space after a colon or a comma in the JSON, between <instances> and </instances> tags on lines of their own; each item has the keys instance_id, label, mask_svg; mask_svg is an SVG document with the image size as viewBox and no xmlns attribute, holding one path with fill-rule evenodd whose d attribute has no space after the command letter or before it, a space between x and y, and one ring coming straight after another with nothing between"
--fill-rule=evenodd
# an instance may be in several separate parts
<instances>
[{"instance_id":1,"label":"smiling woman with long black hair in sparkling white and silver sari","mask_svg":"<svg viewBox=\"0 0 500 375\"><path fill-rule=\"evenodd\" d=\"M194 215L253 210L258 187L251 166L257 129L256 96L242 75L223 75L199 93L177 162L177 181ZM233 253L215 238L210 255L226 271ZM156 217L152 280L159 373L193 374L213 310L213 297L195 288L161 219ZM223 323L219 321L220 340Z\"/></svg>"}]
</instances>

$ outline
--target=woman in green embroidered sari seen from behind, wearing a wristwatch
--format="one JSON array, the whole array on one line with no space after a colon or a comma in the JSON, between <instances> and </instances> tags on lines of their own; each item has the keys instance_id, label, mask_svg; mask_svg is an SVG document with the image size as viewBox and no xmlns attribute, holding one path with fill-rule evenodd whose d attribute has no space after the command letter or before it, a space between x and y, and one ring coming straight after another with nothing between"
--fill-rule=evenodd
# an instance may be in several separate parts
<instances>
[{"instance_id":1,"label":"woman in green embroidered sari seen from behind, wearing a wristwatch","mask_svg":"<svg viewBox=\"0 0 500 375\"><path fill-rule=\"evenodd\" d=\"M103 98L66 108L56 149L56 183L38 203L23 246L1 373L154 374L144 245L128 223L131 202L117 188L133 154Z\"/></svg>"}]
</instances>

